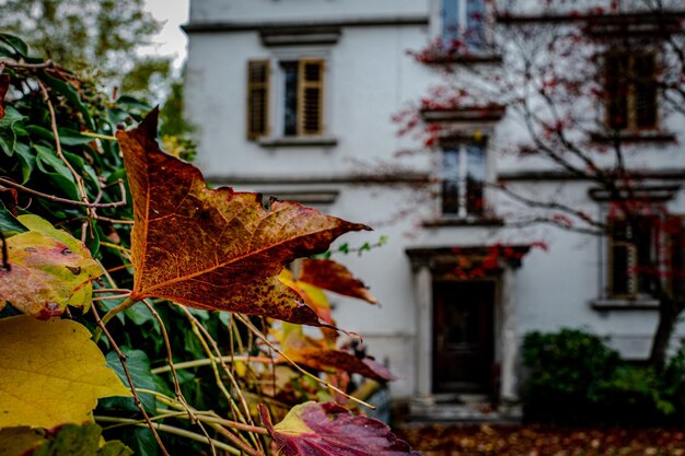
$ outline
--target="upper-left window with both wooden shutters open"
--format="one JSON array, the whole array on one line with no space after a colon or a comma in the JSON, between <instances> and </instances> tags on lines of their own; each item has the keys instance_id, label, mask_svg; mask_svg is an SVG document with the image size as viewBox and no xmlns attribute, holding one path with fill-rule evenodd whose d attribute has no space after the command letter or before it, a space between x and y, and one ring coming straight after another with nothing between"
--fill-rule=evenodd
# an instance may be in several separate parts
<instances>
[{"instance_id":1,"label":"upper-left window with both wooden shutters open","mask_svg":"<svg viewBox=\"0 0 685 456\"><path fill-rule=\"evenodd\" d=\"M276 117L271 119L283 137L323 135L324 60L303 58L277 65L275 81L269 80L269 61L248 62L247 138L269 135L269 93L280 93ZM271 90L272 84L280 90Z\"/></svg>"}]
</instances>

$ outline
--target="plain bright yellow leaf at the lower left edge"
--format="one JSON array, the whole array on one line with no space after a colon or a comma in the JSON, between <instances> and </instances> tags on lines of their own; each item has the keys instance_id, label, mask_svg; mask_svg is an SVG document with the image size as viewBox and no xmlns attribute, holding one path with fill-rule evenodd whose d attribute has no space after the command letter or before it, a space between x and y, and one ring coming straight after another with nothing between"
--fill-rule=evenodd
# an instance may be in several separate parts
<instances>
[{"instance_id":1,"label":"plain bright yellow leaf at the lower left edge","mask_svg":"<svg viewBox=\"0 0 685 456\"><path fill-rule=\"evenodd\" d=\"M0 319L0 428L88 421L97 399L130 396L76 321Z\"/></svg>"}]
</instances>

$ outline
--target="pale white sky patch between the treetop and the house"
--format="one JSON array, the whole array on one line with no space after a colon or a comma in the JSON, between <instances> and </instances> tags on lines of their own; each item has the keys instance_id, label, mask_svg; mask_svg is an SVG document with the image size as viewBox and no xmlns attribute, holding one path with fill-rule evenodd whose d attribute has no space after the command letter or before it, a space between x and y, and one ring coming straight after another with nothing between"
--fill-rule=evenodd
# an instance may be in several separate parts
<instances>
[{"instance_id":1,"label":"pale white sky patch between the treetop and the house","mask_svg":"<svg viewBox=\"0 0 685 456\"><path fill-rule=\"evenodd\" d=\"M162 30L152 38L152 45L141 48L142 55L171 56L179 70L186 58L187 36L181 25L188 22L189 0L144 0L144 8L162 22Z\"/></svg>"}]
</instances>

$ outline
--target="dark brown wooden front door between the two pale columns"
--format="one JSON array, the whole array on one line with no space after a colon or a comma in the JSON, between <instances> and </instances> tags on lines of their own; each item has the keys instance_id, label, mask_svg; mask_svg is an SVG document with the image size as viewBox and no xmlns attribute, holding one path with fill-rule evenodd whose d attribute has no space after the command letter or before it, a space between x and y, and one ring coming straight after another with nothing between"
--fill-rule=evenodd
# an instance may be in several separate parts
<instances>
[{"instance_id":1,"label":"dark brown wooden front door between the two pale columns","mask_svg":"<svg viewBox=\"0 0 685 456\"><path fill-rule=\"evenodd\" d=\"M433 285L433 393L491 393L494 281Z\"/></svg>"}]
</instances>

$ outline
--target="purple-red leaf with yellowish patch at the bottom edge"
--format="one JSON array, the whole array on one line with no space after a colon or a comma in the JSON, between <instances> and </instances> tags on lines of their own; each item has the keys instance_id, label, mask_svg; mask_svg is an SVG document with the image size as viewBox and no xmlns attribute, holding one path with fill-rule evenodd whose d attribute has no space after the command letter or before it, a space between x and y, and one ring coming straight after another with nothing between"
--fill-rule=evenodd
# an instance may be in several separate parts
<instances>
[{"instance_id":1,"label":"purple-red leaf with yellowish patch at the bottom edge","mask_svg":"<svg viewBox=\"0 0 685 456\"><path fill-rule=\"evenodd\" d=\"M381 421L334 402L301 404L276 425L262 404L259 414L282 456L419 456Z\"/></svg>"}]
</instances>

